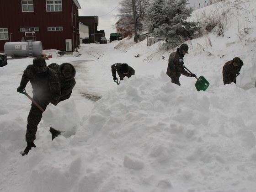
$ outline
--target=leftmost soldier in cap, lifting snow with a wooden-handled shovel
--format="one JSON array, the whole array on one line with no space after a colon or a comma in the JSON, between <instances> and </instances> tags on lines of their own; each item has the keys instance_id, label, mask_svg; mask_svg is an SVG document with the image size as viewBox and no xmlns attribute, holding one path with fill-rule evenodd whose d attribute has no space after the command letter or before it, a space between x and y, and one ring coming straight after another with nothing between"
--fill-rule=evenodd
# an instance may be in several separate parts
<instances>
[{"instance_id":1,"label":"leftmost soldier in cap, lifting snow with a wooden-handled shovel","mask_svg":"<svg viewBox=\"0 0 256 192\"><path fill-rule=\"evenodd\" d=\"M47 67L42 57L33 59L33 64L28 65L21 78L20 86L17 91L24 91L28 81L30 81L33 89L33 99L43 108L51 102L57 105L60 93L59 75ZM41 121L43 112L32 103L30 112L27 117L27 147L21 155L27 155L32 147L36 147L34 140L36 139L37 125Z\"/></svg>"}]
</instances>

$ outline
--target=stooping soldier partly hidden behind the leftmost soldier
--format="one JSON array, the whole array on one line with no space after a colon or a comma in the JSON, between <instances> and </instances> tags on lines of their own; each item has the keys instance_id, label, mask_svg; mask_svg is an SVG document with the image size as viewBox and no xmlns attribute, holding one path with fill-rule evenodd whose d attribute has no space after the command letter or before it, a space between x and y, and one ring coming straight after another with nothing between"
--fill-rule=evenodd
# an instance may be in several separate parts
<instances>
[{"instance_id":1,"label":"stooping soldier partly hidden behind the leftmost soldier","mask_svg":"<svg viewBox=\"0 0 256 192\"><path fill-rule=\"evenodd\" d=\"M63 63L61 65L53 63L48 65L50 69L53 69L59 74L59 82L61 87L61 97L60 101L64 101L71 96L72 89L75 86L75 67L69 63ZM61 133L59 130L50 128L50 133L52 133L52 140Z\"/></svg>"}]
</instances>

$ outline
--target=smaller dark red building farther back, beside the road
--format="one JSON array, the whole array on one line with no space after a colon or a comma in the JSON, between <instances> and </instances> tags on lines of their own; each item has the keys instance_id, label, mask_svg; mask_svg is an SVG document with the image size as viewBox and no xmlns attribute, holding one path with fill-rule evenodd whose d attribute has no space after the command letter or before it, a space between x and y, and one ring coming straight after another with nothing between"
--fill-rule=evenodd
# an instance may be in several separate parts
<instances>
[{"instance_id":1,"label":"smaller dark red building farther back, beside the road","mask_svg":"<svg viewBox=\"0 0 256 192\"><path fill-rule=\"evenodd\" d=\"M83 39L83 43L100 42L101 37L105 37L105 31L98 31L98 16L79 16L79 21L89 28L89 39Z\"/></svg>"}]
</instances>

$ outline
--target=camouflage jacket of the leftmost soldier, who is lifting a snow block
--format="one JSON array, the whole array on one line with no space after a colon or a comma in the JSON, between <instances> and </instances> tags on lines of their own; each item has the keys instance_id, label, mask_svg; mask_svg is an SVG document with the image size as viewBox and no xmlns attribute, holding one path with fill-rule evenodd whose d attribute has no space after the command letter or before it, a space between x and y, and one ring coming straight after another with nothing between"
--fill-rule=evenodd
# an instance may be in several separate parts
<instances>
[{"instance_id":1,"label":"camouflage jacket of the leftmost soldier, who is lifting a snow block","mask_svg":"<svg viewBox=\"0 0 256 192\"><path fill-rule=\"evenodd\" d=\"M33 88L33 98L40 101L48 101L57 104L60 98L59 75L48 68L46 72L36 73L33 65L28 65L24 70L20 86L26 87L30 81Z\"/></svg>"}]
</instances>

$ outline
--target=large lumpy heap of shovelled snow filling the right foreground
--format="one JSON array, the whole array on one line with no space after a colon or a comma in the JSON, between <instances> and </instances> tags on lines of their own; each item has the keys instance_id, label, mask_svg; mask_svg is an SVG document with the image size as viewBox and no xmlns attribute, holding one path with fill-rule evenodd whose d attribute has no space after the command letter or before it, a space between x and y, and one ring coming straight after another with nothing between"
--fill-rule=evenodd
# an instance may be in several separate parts
<instances>
[{"instance_id":1,"label":"large lumpy heap of shovelled snow filling the right foreground","mask_svg":"<svg viewBox=\"0 0 256 192\"><path fill-rule=\"evenodd\" d=\"M101 180L103 166L112 176L107 191L255 189L255 89L198 93L170 85L165 74L122 84L81 123L82 140L97 151L90 175Z\"/></svg>"}]
</instances>

